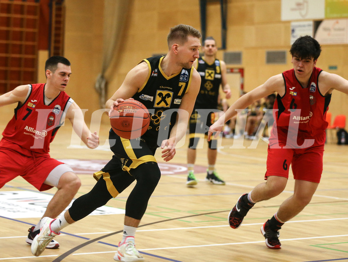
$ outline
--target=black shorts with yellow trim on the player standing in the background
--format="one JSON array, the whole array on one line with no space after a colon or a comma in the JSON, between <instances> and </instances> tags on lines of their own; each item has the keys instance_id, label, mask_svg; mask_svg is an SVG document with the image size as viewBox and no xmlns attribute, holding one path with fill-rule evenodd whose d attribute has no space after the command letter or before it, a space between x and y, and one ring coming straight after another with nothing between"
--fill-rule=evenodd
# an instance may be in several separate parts
<instances>
[{"instance_id":1,"label":"black shorts with yellow trim on the player standing in the background","mask_svg":"<svg viewBox=\"0 0 348 262\"><path fill-rule=\"evenodd\" d=\"M210 111L210 112L209 112ZM207 139L209 127L215 123L218 118L218 114L211 112L211 109L194 109L189 119L189 145L190 149L196 149L199 139ZM217 138L211 137L208 142L210 149L217 148Z\"/></svg>"}]
</instances>

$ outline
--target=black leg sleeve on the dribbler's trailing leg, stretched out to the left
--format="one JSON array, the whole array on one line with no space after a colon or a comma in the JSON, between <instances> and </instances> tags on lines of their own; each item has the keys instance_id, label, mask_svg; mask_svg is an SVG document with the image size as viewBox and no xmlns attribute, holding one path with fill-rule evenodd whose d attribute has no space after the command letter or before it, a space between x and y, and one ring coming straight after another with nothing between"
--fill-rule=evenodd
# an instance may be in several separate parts
<instances>
[{"instance_id":1,"label":"black leg sleeve on the dribbler's trailing leg, stretched out to the left","mask_svg":"<svg viewBox=\"0 0 348 262\"><path fill-rule=\"evenodd\" d=\"M74 221L78 221L98 207L105 205L112 196L110 195L103 178L99 179L95 186L87 194L77 198L69 208L69 214Z\"/></svg>"}]
</instances>

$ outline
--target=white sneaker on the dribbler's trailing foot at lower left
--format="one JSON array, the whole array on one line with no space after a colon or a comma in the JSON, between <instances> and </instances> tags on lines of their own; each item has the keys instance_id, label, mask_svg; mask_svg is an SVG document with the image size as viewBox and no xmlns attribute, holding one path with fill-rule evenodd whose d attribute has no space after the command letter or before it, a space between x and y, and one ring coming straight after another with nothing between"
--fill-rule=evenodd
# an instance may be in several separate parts
<instances>
[{"instance_id":1,"label":"white sneaker on the dribbler's trailing foot at lower left","mask_svg":"<svg viewBox=\"0 0 348 262\"><path fill-rule=\"evenodd\" d=\"M55 233L51 230L51 223L55 219L44 217L40 223L40 233L35 236L31 244L32 255L38 257L45 250L46 246L52 241L55 236L60 233Z\"/></svg>"}]
</instances>

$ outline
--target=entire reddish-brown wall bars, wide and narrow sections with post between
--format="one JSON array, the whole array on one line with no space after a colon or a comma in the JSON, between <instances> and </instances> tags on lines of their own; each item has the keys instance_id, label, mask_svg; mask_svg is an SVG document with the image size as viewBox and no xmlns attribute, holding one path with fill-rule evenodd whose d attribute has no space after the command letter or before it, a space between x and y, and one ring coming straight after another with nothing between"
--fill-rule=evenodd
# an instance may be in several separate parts
<instances>
[{"instance_id":1,"label":"entire reddish-brown wall bars, wide and narrow sections with post between","mask_svg":"<svg viewBox=\"0 0 348 262\"><path fill-rule=\"evenodd\" d=\"M37 82L38 50L64 55L63 0L0 0L0 94Z\"/></svg>"}]
</instances>

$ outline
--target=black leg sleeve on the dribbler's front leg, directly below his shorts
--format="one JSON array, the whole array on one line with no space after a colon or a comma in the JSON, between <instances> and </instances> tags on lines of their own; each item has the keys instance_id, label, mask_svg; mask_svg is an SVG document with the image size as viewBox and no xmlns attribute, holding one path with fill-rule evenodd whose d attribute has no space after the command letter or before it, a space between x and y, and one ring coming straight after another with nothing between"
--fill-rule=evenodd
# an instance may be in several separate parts
<instances>
[{"instance_id":1,"label":"black leg sleeve on the dribbler's front leg, directly below his shorts","mask_svg":"<svg viewBox=\"0 0 348 262\"><path fill-rule=\"evenodd\" d=\"M155 162L147 162L131 170L131 175L137 179L126 203L126 216L142 219L150 196L161 178L161 171Z\"/></svg>"}]
</instances>

